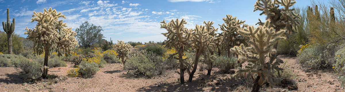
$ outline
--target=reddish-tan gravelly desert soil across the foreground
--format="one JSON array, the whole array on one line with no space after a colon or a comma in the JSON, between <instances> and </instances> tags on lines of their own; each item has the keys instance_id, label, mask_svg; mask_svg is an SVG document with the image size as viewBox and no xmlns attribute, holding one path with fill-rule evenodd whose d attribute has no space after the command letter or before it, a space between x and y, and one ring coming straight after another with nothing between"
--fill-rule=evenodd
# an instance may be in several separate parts
<instances>
[{"instance_id":1,"label":"reddish-tan gravelly desert soil across the foreground","mask_svg":"<svg viewBox=\"0 0 345 92\"><path fill-rule=\"evenodd\" d=\"M279 86L263 86L262 92L345 92L332 70L307 69L297 63L296 57L279 56L288 62L298 76L294 79L297 90ZM29 81L23 79L20 69L0 67L0 92L250 92L252 85L235 79L232 74L223 74L213 69L208 76L207 70L197 69L192 82L180 84L178 70L166 70L153 78L134 78L128 76L120 63L106 64L93 78L71 78L68 67L50 68L48 74L57 75L54 80ZM187 81L188 75L185 75ZM53 82L52 82L53 81Z\"/></svg>"}]
</instances>

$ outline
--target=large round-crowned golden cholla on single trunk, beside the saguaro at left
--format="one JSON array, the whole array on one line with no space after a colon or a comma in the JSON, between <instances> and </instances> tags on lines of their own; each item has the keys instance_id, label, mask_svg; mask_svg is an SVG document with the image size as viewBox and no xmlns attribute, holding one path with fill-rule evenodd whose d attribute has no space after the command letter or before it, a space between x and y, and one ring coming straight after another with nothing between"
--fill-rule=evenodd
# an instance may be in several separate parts
<instances>
[{"instance_id":1,"label":"large round-crowned golden cholla on single trunk, beside the saguaro at left","mask_svg":"<svg viewBox=\"0 0 345 92\"><path fill-rule=\"evenodd\" d=\"M37 21L36 27L33 29L28 29L26 27L24 34L28 34L27 39L34 42L34 48L37 54L45 53L44 59L44 69L43 78L46 78L48 71L48 56L50 51L69 54L71 49L77 45L77 41L74 36L77 34L72 31L72 28L66 28L67 23L62 23L63 20L58 20L59 18L65 18L65 15L54 9L49 8L44 9L44 12L33 12L34 18L31 22Z\"/></svg>"}]
</instances>

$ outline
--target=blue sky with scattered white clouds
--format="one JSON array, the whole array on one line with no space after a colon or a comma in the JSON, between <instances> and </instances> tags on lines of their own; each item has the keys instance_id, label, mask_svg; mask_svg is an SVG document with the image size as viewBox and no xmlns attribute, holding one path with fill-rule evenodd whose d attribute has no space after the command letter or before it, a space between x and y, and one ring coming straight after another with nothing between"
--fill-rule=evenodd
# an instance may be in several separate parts
<instances>
[{"instance_id":1,"label":"blue sky with scattered white clouds","mask_svg":"<svg viewBox=\"0 0 345 92\"><path fill-rule=\"evenodd\" d=\"M67 19L62 19L68 27L75 31L84 21L102 26L106 40L110 38L125 42L164 41L160 34L160 22L171 19L187 21L185 27L195 28L203 21L214 21L214 27L223 24L226 14L246 20L246 24L254 25L260 11L253 12L256 0L0 0L0 21L6 21L6 9L10 9L10 20L16 18L15 33L26 38L26 27L34 28L37 22L30 22L33 11L56 9ZM295 6L309 6L309 0L296 0ZM0 31L3 31L1 28ZM218 32L221 32L218 30Z\"/></svg>"}]
</instances>

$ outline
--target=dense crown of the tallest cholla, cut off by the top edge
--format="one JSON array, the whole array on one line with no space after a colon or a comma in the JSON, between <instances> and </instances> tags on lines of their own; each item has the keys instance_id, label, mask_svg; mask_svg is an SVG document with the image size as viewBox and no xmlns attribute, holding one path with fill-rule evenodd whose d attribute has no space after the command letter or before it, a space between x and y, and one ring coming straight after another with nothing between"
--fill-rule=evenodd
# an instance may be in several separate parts
<instances>
[{"instance_id":1,"label":"dense crown of the tallest cholla, cut off by the top edge","mask_svg":"<svg viewBox=\"0 0 345 92\"><path fill-rule=\"evenodd\" d=\"M280 31L280 29L286 29L286 37L289 39L290 33L295 32L297 30L297 24L299 24L298 14L293 13L292 11L295 11L295 9L290 9L291 6L293 6L296 3L295 0L257 0L254 4L254 11L260 10L262 13L260 13L260 16L262 14L265 14L266 20L269 19L272 23L270 24L270 27L273 27L276 32ZM283 6L284 8L279 9L279 5ZM257 24L264 24L261 22ZM274 45L274 48L277 47Z\"/></svg>"}]
</instances>

